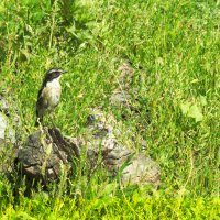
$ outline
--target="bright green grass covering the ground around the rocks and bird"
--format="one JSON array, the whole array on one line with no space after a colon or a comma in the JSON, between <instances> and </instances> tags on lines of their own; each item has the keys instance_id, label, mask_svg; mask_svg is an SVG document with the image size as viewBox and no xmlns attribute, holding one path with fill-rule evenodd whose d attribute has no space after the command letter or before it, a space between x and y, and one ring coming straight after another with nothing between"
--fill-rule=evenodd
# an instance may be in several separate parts
<instances>
[{"instance_id":1,"label":"bright green grass covering the ground around the rocks and bird","mask_svg":"<svg viewBox=\"0 0 220 220\"><path fill-rule=\"evenodd\" d=\"M162 172L160 189L147 199L143 189L109 198L99 191L105 184L95 178L92 189L81 176L73 184L78 199L65 191L57 199L30 199L22 186L14 197L14 186L0 175L2 218L220 218L219 6L211 0L2 1L0 88L18 101L22 138L34 131L37 90L52 66L69 73L56 110L64 133L81 134L96 106L122 120L109 98L119 87L120 64L130 59L142 110L123 123L139 125L136 136L146 140Z\"/></svg>"}]
</instances>

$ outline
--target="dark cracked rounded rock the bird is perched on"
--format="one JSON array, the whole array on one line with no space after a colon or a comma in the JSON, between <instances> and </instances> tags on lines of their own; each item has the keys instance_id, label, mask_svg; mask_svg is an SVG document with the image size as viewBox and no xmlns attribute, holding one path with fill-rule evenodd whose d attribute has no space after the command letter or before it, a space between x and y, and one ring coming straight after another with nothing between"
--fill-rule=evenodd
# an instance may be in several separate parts
<instances>
[{"instance_id":1,"label":"dark cracked rounded rock the bird is perched on","mask_svg":"<svg viewBox=\"0 0 220 220\"><path fill-rule=\"evenodd\" d=\"M46 185L59 179L64 172L72 173L72 162L80 155L78 144L75 139L62 135L56 128L43 128L28 138L18 152L16 161L29 179Z\"/></svg>"}]
</instances>

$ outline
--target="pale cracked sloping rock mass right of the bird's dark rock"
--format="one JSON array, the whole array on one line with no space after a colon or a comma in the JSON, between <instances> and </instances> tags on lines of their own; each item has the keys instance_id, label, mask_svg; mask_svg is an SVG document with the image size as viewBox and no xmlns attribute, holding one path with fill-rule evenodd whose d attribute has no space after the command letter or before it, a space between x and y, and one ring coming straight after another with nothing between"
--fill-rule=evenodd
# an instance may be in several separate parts
<instances>
[{"instance_id":1,"label":"pale cracked sloping rock mass right of the bird's dark rock","mask_svg":"<svg viewBox=\"0 0 220 220\"><path fill-rule=\"evenodd\" d=\"M92 109L87 125L87 158L91 169L102 165L107 169L108 176L118 176L122 185L138 184L158 187L158 164L150 156L145 156L143 152L138 153L134 146L128 148L123 144L123 135L128 135L127 143L130 143L129 145L134 145L134 142L129 136L130 131L125 131L112 116L106 114L101 109ZM132 134L130 135L132 136ZM98 162L100 154L101 162Z\"/></svg>"}]
</instances>

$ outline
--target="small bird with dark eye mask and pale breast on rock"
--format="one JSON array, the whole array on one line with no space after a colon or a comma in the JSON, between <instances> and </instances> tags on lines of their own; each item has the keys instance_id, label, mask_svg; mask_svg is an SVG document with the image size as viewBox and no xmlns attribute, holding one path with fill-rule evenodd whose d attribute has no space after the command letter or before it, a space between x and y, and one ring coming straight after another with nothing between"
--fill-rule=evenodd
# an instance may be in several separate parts
<instances>
[{"instance_id":1,"label":"small bird with dark eye mask and pale breast on rock","mask_svg":"<svg viewBox=\"0 0 220 220\"><path fill-rule=\"evenodd\" d=\"M35 125L43 123L43 117L51 113L59 103L62 86L59 79L66 73L61 68L48 69L45 74L36 101L36 122Z\"/></svg>"}]
</instances>

